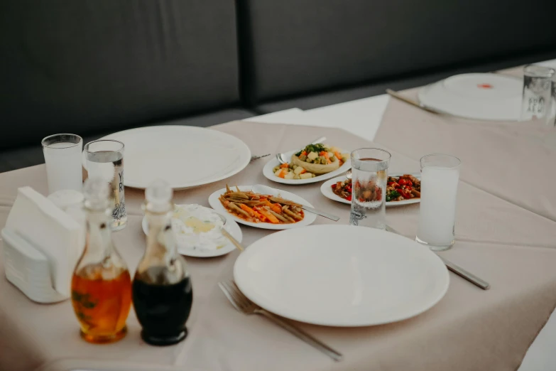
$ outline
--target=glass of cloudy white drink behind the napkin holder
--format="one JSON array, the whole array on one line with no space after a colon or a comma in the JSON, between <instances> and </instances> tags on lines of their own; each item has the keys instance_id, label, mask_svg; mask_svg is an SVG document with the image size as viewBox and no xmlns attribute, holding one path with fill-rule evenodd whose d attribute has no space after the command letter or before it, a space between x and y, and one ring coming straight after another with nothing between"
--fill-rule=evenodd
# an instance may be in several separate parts
<instances>
[{"instance_id":1,"label":"glass of cloudy white drink behind the napkin holder","mask_svg":"<svg viewBox=\"0 0 556 371\"><path fill-rule=\"evenodd\" d=\"M54 134L41 142L46 163L48 193L72 189L81 192L83 170L81 151L83 139L75 134Z\"/></svg>"}]
</instances>

